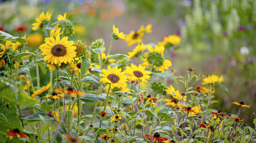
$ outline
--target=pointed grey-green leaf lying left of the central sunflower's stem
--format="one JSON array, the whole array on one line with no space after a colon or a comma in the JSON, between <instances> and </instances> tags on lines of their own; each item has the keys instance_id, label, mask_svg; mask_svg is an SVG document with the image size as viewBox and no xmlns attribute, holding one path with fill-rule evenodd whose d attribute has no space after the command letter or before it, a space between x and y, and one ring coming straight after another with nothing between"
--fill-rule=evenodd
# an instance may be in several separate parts
<instances>
[{"instance_id":1,"label":"pointed grey-green leaf lying left of the central sunflower's stem","mask_svg":"<svg viewBox=\"0 0 256 143\"><path fill-rule=\"evenodd\" d=\"M85 96L80 96L77 99L83 101L84 103L97 103L106 101L106 97L91 93L85 93Z\"/></svg>"}]
</instances>

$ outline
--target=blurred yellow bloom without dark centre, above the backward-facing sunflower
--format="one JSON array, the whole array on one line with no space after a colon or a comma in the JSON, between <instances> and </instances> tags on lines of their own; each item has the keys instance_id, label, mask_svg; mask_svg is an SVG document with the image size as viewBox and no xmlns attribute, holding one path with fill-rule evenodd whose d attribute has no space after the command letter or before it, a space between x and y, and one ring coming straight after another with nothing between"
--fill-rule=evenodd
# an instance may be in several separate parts
<instances>
[{"instance_id":1,"label":"blurred yellow bloom without dark centre, above the backward-facing sunflower","mask_svg":"<svg viewBox=\"0 0 256 143\"><path fill-rule=\"evenodd\" d=\"M172 47L173 45L179 45L181 43L181 38L176 35L169 35L164 37L162 42L158 42L159 46Z\"/></svg>"}]
</instances>

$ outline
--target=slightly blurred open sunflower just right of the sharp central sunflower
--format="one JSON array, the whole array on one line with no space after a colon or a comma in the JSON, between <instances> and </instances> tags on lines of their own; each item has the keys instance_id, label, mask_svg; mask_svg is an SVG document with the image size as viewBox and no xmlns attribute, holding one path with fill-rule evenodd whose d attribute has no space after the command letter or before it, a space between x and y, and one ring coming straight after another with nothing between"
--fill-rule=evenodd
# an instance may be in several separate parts
<instances>
[{"instance_id":1,"label":"slightly blurred open sunflower just right of the sharp central sunflower","mask_svg":"<svg viewBox=\"0 0 256 143\"><path fill-rule=\"evenodd\" d=\"M126 74L128 74L128 79L133 79L133 80L137 80L137 79L141 79L142 81L145 81L146 83L147 80L150 80L150 76L148 74L151 74L151 71L145 71L146 66L139 65L138 67L134 64L131 64L131 67L126 66L125 67L125 71Z\"/></svg>"}]
</instances>

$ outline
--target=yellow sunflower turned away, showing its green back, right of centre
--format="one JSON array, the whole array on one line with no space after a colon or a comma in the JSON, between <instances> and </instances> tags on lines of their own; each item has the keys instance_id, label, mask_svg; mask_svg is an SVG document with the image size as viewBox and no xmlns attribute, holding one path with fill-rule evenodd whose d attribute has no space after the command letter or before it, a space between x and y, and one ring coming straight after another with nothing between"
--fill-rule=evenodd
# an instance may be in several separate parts
<instances>
[{"instance_id":1,"label":"yellow sunflower turned away, showing its green back, right of centre","mask_svg":"<svg viewBox=\"0 0 256 143\"><path fill-rule=\"evenodd\" d=\"M168 67L172 66L172 62L163 57L164 46L156 45L153 49L151 45L147 45L147 48L150 53L144 53L146 57L142 58L144 60L142 65L152 66L153 63L156 71L161 71L162 73L164 70L168 70Z\"/></svg>"}]
</instances>

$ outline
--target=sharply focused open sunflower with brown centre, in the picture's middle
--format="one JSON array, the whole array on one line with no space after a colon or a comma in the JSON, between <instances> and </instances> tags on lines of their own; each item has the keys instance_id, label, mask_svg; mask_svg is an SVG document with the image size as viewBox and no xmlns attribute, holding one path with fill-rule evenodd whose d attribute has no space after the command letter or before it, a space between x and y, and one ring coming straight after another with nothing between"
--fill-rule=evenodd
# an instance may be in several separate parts
<instances>
[{"instance_id":1,"label":"sharply focused open sunflower with brown centre, in the picture's middle","mask_svg":"<svg viewBox=\"0 0 256 143\"><path fill-rule=\"evenodd\" d=\"M105 69L101 70L104 74L99 74L102 76L99 82L103 82L103 84L109 83L111 89L114 87L124 87L124 84L128 81L128 77L125 75L125 71L121 72L121 70L122 69L118 69L117 66L111 69L110 65L108 65L108 71Z\"/></svg>"}]
</instances>

